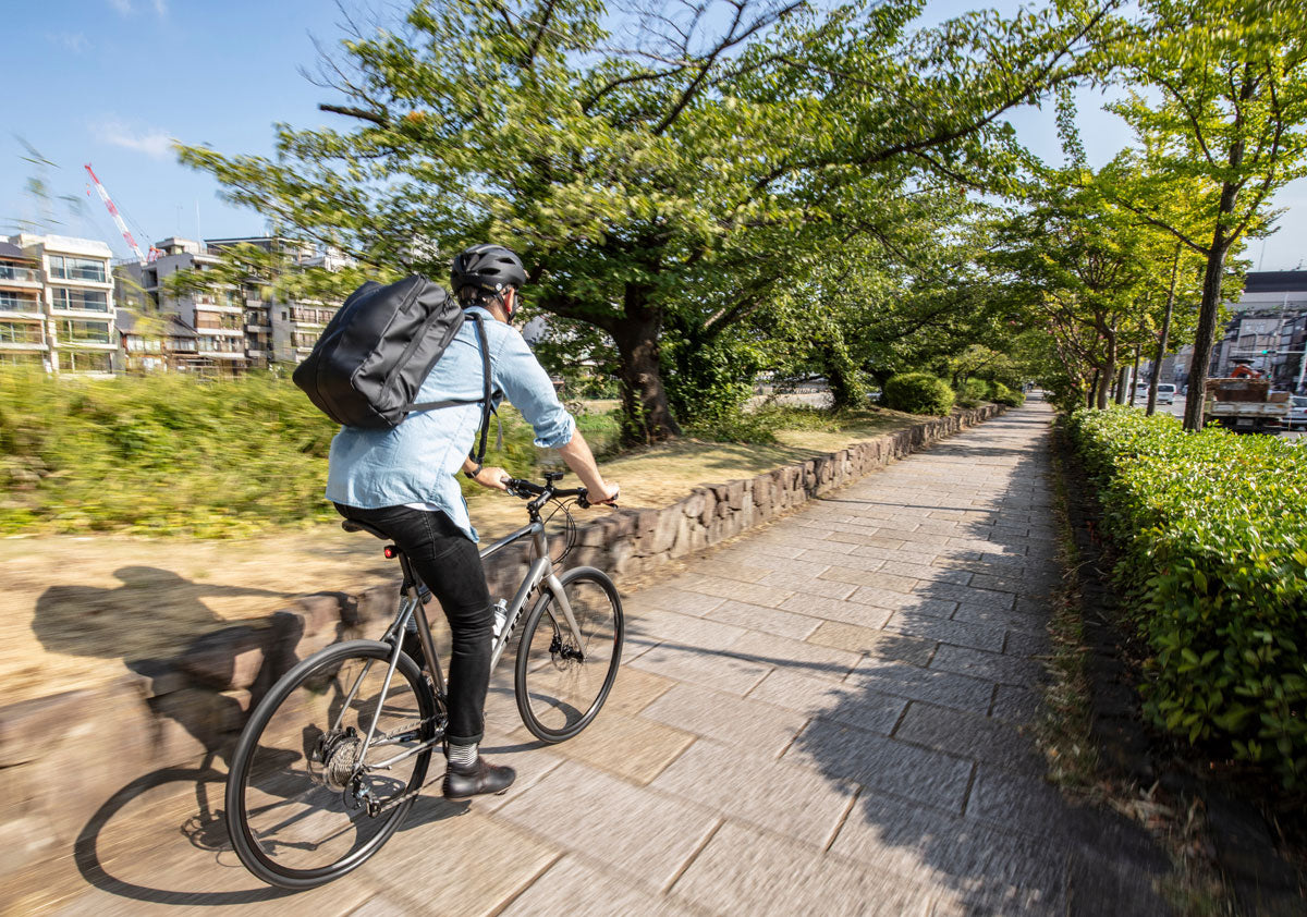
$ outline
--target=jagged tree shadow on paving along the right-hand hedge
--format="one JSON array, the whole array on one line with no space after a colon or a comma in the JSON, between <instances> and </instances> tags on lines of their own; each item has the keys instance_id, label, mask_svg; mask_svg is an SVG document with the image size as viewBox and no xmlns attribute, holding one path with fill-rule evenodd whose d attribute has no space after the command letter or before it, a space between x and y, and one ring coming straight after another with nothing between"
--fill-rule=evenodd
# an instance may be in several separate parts
<instances>
[{"instance_id":1,"label":"jagged tree shadow on paving along the right-hand hedge","mask_svg":"<svg viewBox=\"0 0 1307 917\"><path fill-rule=\"evenodd\" d=\"M1151 839L1115 812L1069 803L1034 745L1056 570L1047 443L1031 436L1046 426L1044 413L1009 413L914 460L912 492L938 495L935 509L972 496L961 513L972 543L937 558L936 580L891 619L941 643L925 668L891 645L865 656L787 756L861 786L831 853L924 871L967 912L1166 913L1155 884L1167 861ZM999 491L985 492L987 481ZM989 508L970 506L991 496ZM889 735L851 725L886 696L910 700Z\"/></svg>"}]
</instances>

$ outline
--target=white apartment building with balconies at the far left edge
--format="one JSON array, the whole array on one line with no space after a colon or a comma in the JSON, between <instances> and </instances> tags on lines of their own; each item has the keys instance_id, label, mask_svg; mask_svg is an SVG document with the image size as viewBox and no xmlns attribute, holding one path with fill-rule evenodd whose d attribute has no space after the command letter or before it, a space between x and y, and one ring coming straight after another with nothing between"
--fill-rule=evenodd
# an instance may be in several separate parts
<instances>
[{"instance_id":1,"label":"white apartment building with balconies at the far left edge","mask_svg":"<svg viewBox=\"0 0 1307 917\"><path fill-rule=\"evenodd\" d=\"M13 256L14 248L18 257ZM24 338L9 349L16 354L13 359L34 362L31 354L39 354L51 372L110 375L118 341L108 246L95 239L21 233L9 236L7 251L10 256L5 264L10 266L4 273L13 277L4 302L14 303L16 317L7 320L5 333ZM17 317L33 315L22 310L30 308L35 278L41 281L39 341L31 323Z\"/></svg>"}]
</instances>

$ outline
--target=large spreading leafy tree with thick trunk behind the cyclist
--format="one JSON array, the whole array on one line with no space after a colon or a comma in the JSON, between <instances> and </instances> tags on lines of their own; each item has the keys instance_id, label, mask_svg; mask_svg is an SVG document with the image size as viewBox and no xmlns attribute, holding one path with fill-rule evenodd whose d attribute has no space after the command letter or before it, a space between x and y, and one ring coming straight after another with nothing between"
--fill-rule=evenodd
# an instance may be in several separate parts
<instances>
[{"instance_id":1,"label":"large spreading leafy tree with thick trunk behind the cyclist","mask_svg":"<svg viewBox=\"0 0 1307 917\"><path fill-rule=\"evenodd\" d=\"M618 44L599 0L437 0L324 64L350 128L182 157L365 266L442 277L465 243L515 246L538 308L612 337L626 440L655 442L678 432L664 333L714 346L874 234L868 201L995 166L1001 115L1082 68L1120 3L912 33L920 0L672 1Z\"/></svg>"}]
</instances>

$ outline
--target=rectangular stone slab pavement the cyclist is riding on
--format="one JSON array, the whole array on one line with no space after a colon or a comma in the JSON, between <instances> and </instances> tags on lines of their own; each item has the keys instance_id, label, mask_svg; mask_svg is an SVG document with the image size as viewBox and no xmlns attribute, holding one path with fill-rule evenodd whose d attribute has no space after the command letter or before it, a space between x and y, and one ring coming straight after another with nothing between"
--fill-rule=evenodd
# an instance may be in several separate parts
<instances>
[{"instance_id":1,"label":"rectangular stone slab pavement the cyclist is riding on","mask_svg":"<svg viewBox=\"0 0 1307 917\"><path fill-rule=\"evenodd\" d=\"M572 742L532 742L497 681L484 750L518 784L471 805L433 784L335 884L286 895L240 869L216 762L107 806L9 907L1165 913L1146 837L1064 802L1029 734L1057 577L1050 417L1009 411L630 596L625 666Z\"/></svg>"}]
</instances>

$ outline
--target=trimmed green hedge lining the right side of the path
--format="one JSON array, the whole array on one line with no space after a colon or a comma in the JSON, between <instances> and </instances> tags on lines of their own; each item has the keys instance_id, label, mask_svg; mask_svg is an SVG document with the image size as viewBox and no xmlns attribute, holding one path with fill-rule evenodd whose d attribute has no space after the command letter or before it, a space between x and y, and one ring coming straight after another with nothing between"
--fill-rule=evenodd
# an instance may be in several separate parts
<instances>
[{"instance_id":1,"label":"trimmed green hedge lining the right side of the path","mask_svg":"<svg viewBox=\"0 0 1307 917\"><path fill-rule=\"evenodd\" d=\"M1304 451L1125 408L1069 431L1150 648L1145 713L1307 785Z\"/></svg>"}]
</instances>

